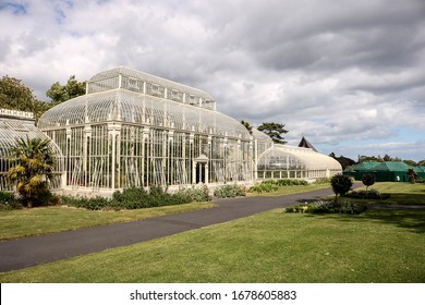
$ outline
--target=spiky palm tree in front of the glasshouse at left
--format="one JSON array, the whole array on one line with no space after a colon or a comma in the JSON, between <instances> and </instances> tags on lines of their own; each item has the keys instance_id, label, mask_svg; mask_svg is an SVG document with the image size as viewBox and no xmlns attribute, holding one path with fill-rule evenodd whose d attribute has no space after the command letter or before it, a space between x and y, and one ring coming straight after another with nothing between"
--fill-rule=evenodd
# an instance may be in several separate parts
<instances>
[{"instance_id":1,"label":"spiky palm tree in front of the glasshouse at left","mask_svg":"<svg viewBox=\"0 0 425 305\"><path fill-rule=\"evenodd\" d=\"M49 139L27 136L17 139L11 148L11 159L15 166L9 169L5 176L16 185L28 208L47 204L51 196L49 181L53 178L54 157L49 144Z\"/></svg>"}]
</instances>

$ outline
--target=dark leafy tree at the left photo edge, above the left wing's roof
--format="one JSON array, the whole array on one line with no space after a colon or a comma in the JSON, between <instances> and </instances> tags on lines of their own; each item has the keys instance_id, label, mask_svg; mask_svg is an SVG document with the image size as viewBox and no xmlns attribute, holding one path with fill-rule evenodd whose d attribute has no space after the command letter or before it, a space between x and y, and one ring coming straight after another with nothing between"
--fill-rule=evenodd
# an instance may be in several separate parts
<instances>
[{"instance_id":1,"label":"dark leafy tree at the left photo edge, above the left wing's roof","mask_svg":"<svg viewBox=\"0 0 425 305\"><path fill-rule=\"evenodd\" d=\"M37 121L47 110L47 105L38 100L21 80L3 76L0 80L0 108L33 112Z\"/></svg>"}]
</instances>

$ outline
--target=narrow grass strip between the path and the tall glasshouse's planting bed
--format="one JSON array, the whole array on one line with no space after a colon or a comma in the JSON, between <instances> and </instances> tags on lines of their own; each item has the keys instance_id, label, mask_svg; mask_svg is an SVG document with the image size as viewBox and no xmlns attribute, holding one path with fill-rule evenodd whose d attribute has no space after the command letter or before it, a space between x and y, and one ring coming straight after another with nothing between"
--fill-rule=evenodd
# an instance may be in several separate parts
<instances>
[{"instance_id":1,"label":"narrow grass strip between the path and the tall glasshouse's planting bed","mask_svg":"<svg viewBox=\"0 0 425 305\"><path fill-rule=\"evenodd\" d=\"M192 203L156 208L94 211L64 206L0 211L0 240L41 235L96 225L127 222L196 209L210 208L211 203Z\"/></svg>"}]
</instances>

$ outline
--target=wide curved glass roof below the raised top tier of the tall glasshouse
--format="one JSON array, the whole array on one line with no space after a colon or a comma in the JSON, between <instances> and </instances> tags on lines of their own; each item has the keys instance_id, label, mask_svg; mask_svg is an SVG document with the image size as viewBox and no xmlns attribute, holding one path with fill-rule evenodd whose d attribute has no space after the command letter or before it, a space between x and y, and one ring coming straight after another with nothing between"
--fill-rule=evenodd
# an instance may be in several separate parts
<instances>
[{"instance_id":1,"label":"wide curved glass roof below the raised top tier of the tall glasshouse","mask_svg":"<svg viewBox=\"0 0 425 305\"><path fill-rule=\"evenodd\" d=\"M218 111L126 89L88 94L62 102L41 115L38 127L48 130L107 121L251 138L240 122Z\"/></svg>"}]
</instances>

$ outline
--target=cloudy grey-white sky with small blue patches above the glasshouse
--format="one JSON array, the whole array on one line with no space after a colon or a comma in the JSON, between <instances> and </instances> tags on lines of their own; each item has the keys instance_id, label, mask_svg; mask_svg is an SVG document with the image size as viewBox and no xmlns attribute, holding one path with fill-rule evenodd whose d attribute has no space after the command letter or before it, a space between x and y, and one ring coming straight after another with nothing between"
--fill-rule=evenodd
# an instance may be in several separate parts
<instances>
[{"instance_id":1,"label":"cloudy grey-white sky with small blue patches above the glasshouse","mask_svg":"<svg viewBox=\"0 0 425 305\"><path fill-rule=\"evenodd\" d=\"M320 152L425 159L424 0L0 0L0 76L40 100L119 65Z\"/></svg>"}]
</instances>

